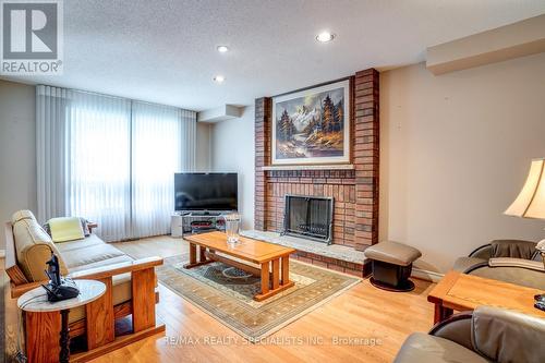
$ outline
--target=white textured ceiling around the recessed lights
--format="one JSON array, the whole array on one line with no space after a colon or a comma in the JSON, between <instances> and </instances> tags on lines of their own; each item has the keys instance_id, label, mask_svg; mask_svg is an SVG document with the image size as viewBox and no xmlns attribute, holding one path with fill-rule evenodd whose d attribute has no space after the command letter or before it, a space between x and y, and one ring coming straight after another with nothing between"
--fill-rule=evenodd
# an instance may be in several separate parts
<instances>
[{"instance_id":1,"label":"white textured ceiling around the recessed lights","mask_svg":"<svg viewBox=\"0 0 545 363\"><path fill-rule=\"evenodd\" d=\"M193 110L252 105L542 13L544 0L66 0L64 74L11 80ZM335 41L318 44L323 29Z\"/></svg>"}]
</instances>

